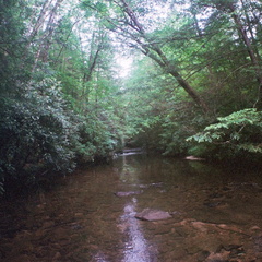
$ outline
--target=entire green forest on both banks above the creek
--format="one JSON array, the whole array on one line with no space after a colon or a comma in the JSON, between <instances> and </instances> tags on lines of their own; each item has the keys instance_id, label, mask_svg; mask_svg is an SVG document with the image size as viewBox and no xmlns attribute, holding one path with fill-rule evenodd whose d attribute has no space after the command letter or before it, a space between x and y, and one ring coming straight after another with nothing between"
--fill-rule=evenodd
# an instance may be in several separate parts
<instances>
[{"instance_id":1,"label":"entire green forest on both banks above the creek","mask_svg":"<svg viewBox=\"0 0 262 262\"><path fill-rule=\"evenodd\" d=\"M259 0L0 0L0 191L123 147L262 159Z\"/></svg>"}]
</instances>

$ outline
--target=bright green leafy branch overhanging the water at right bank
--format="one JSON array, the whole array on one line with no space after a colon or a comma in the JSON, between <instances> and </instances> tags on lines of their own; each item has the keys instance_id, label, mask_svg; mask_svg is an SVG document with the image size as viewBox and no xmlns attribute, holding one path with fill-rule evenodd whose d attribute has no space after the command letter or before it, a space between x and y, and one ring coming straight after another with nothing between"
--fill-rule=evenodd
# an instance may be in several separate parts
<instances>
[{"instance_id":1,"label":"bright green leafy branch overhanging the water at right bank","mask_svg":"<svg viewBox=\"0 0 262 262\"><path fill-rule=\"evenodd\" d=\"M262 112L247 108L217 118L203 132L187 139L191 152L210 158L252 158L262 156ZM200 146L199 146L199 145Z\"/></svg>"}]
</instances>

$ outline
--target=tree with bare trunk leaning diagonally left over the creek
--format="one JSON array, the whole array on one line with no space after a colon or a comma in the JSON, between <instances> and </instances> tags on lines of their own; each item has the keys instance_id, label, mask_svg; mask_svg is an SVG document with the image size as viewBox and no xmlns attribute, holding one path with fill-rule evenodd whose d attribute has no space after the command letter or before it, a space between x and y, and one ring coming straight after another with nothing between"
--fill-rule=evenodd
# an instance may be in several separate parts
<instances>
[{"instance_id":1,"label":"tree with bare trunk leaning diagonally left over the creek","mask_svg":"<svg viewBox=\"0 0 262 262\"><path fill-rule=\"evenodd\" d=\"M130 47L140 50L154 60L166 73L171 74L195 104L199 105L204 112L209 111L206 103L188 81L182 78L178 67L167 58L155 39L150 37L150 34L139 21L139 14L132 10L126 0L112 2L115 8L112 17L109 16L109 12L107 11L110 7L104 2L91 3L90 1L84 1L83 5L100 13L109 31L123 37Z\"/></svg>"}]
</instances>

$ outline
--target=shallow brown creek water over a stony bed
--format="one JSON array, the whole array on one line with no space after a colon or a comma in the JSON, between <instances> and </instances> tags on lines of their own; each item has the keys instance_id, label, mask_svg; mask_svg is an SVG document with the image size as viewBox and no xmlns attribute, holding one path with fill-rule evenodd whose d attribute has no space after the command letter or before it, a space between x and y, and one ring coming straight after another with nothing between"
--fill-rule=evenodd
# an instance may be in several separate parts
<instances>
[{"instance_id":1,"label":"shallow brown creek water over a stony bed","mask_svg":"<svg viewBox=\"0 0 262 262\"><path fill-rule=\"evenodd\" d=\"M138 154L60 182L1 204L0 261L262 261L261 170Z\"/></svg>"}]
</instances>

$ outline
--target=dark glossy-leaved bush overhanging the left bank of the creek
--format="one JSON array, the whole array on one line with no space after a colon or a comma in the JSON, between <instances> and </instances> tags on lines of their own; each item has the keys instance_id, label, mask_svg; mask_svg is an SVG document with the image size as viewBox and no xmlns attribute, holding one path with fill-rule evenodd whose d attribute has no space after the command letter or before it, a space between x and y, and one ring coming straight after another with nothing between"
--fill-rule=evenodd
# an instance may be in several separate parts
<instances>
[{"instance_id":1,"label":"dark glossy-leaved bush overhanging the left bank of the creek","mask_svg":"<svg viewBox=\"0 0 262 262\"><path fill-rule=\"evenodd\" d=\"M1 98L1 180L28 183L45 174L74 168L72 136L78 126L53 79L20 86L19 97Z\"/></svg>"}]
</instances>

